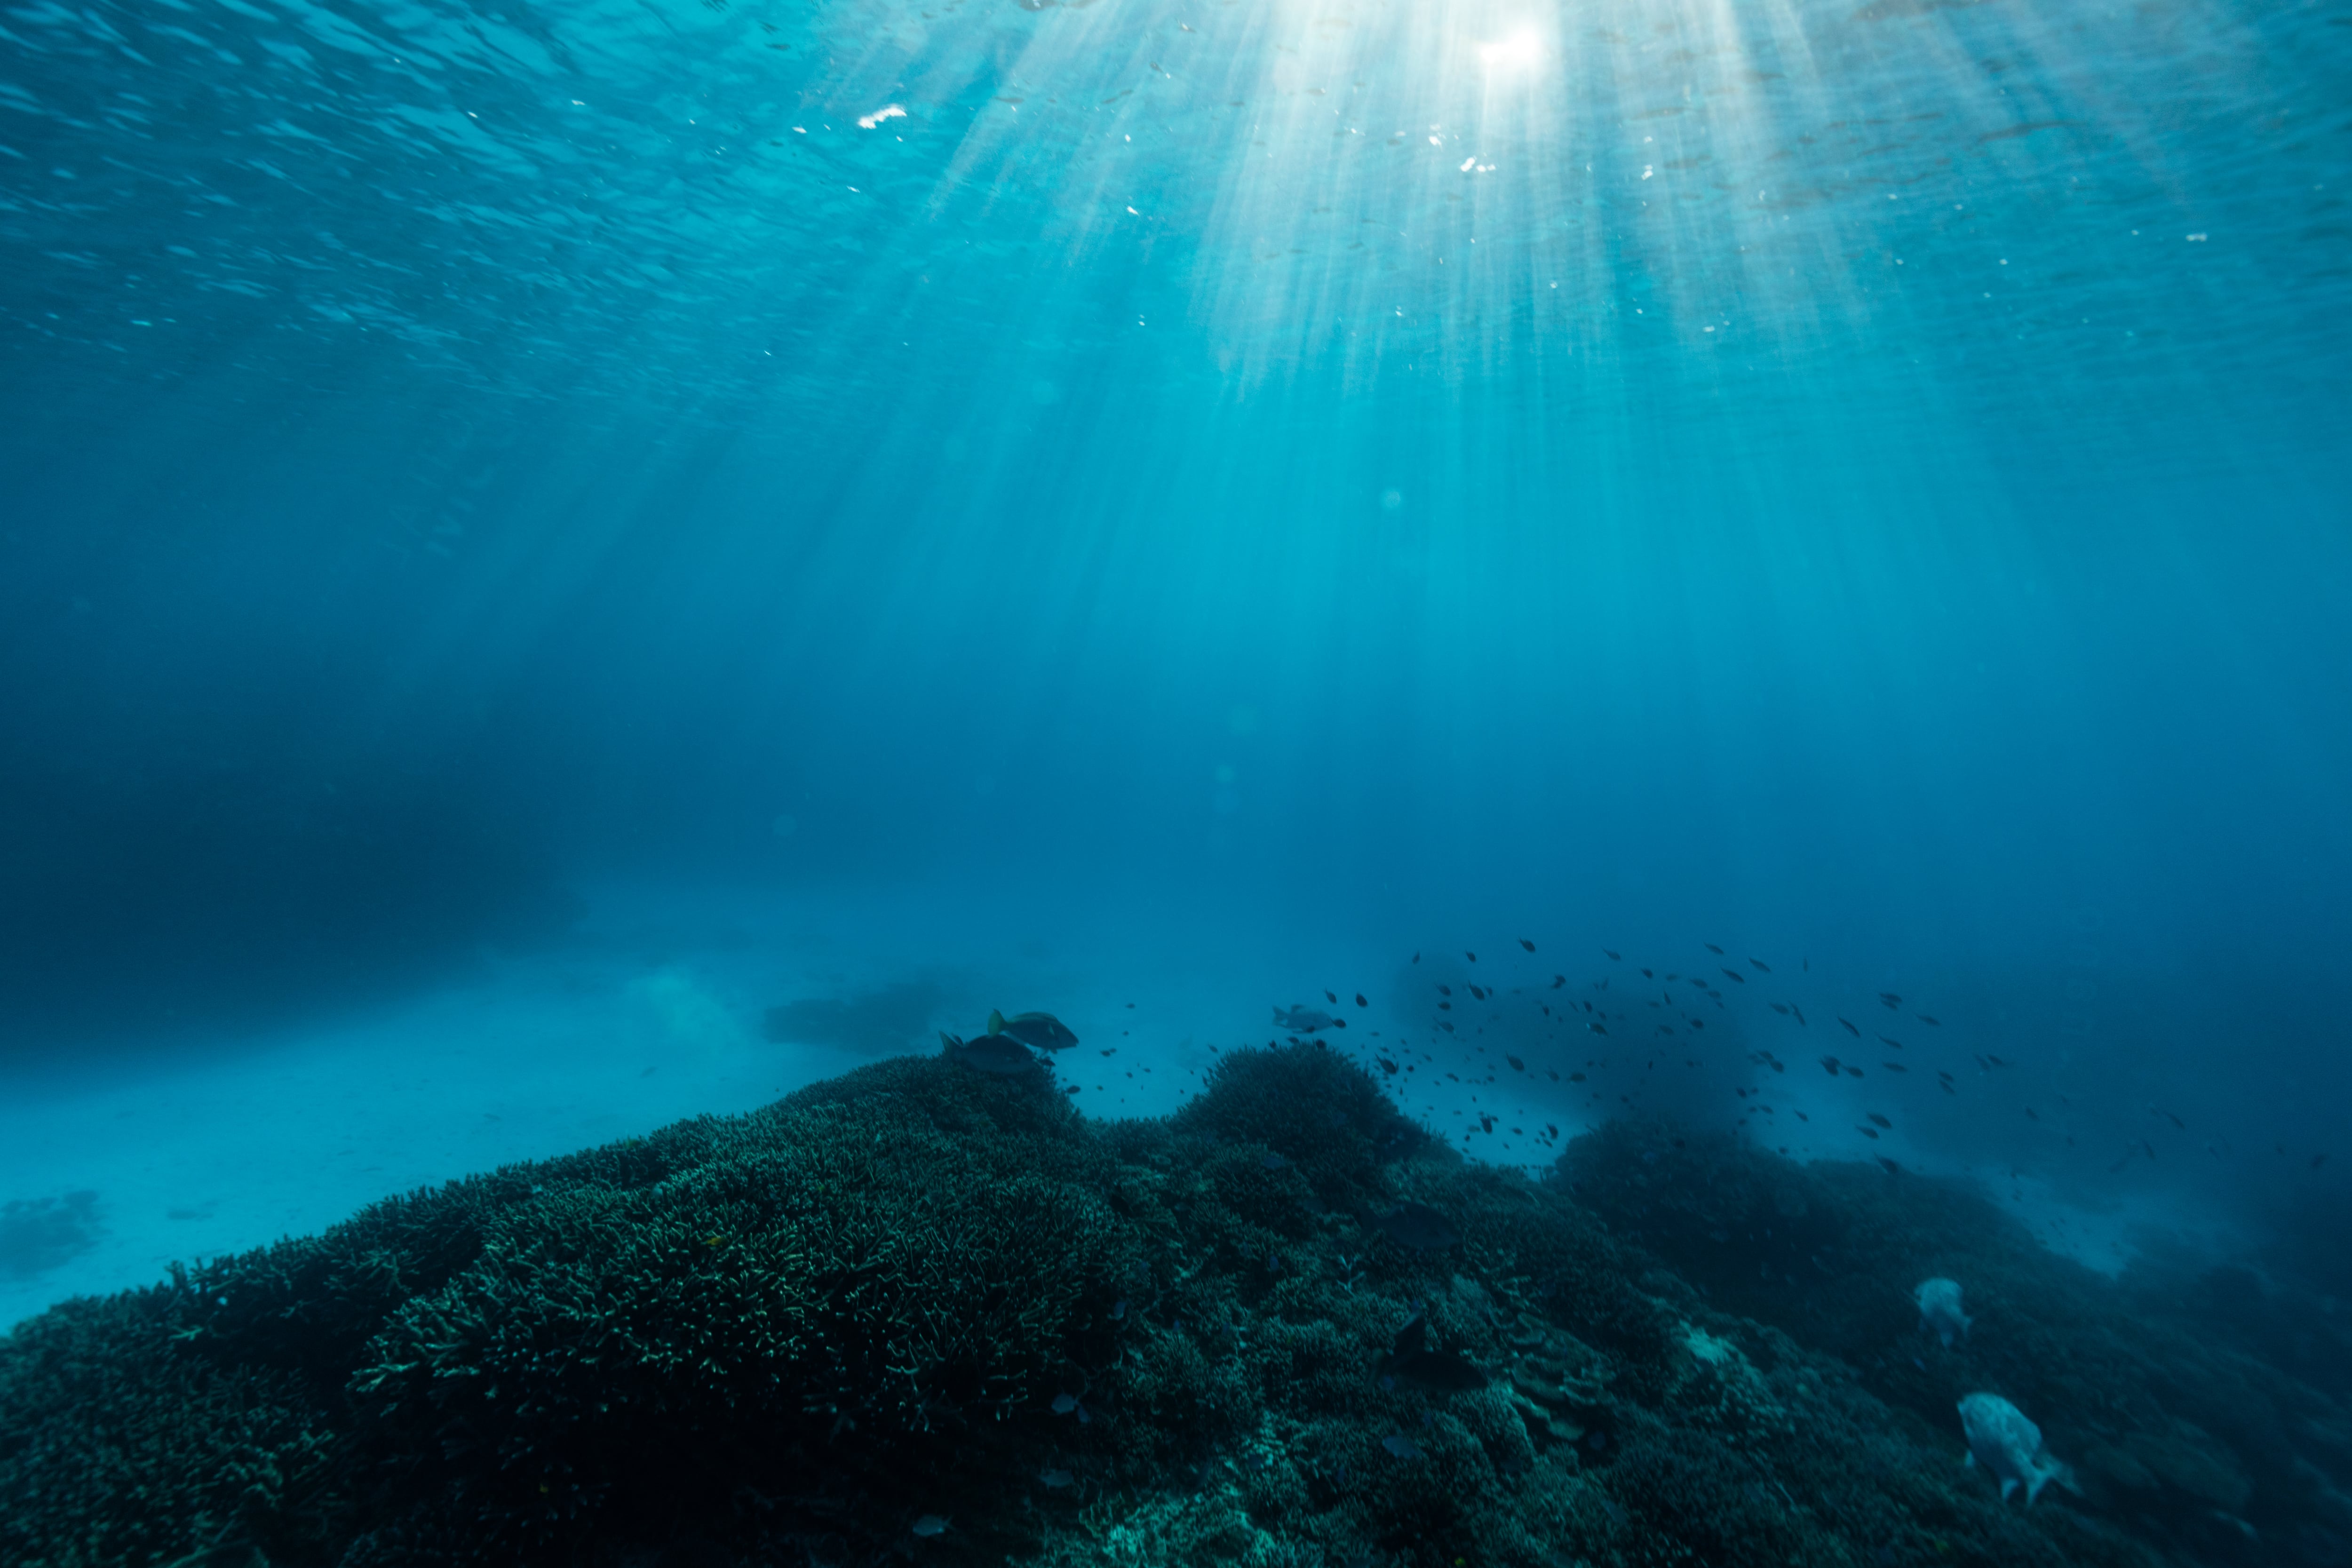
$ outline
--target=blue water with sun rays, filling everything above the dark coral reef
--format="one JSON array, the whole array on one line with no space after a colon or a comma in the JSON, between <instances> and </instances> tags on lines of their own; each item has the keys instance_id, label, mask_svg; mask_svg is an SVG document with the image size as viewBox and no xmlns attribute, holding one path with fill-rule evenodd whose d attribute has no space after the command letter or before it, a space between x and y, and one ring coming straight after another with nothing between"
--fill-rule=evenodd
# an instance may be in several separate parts
<instances>
[{"instance_id":1,"label":"blue water with sun rays, filling everything above the dark coral reef","mask_svg":"<svg viewBox=\"0 0 2352 1568\"><path fill-rule=\"evenodd\" d=\"M1748 976L1705 1067L1491 1093L2352 1288L2347 85L2328 5L7 7L0 1316L988 1006L1134 1114L1642 966Z\"/></svg>"}]
</instances>

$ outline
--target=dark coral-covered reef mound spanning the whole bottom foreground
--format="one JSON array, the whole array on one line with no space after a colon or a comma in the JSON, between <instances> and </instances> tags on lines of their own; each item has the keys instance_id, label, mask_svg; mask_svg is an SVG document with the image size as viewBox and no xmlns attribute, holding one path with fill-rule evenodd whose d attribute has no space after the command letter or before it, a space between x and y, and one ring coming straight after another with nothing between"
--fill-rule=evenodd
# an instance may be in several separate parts
<instances>
[{"instance_id":1,"label":"dark coral-covered reef mound spanning the whole bottom foreground","mask_svg":"<svg viewBox=\"0 0 2352 1568\"><path fill-rule=\"evenodd\" d=\"M2347 1366L2340 1302L1903 1171L1468 1164L1312 1044L1155 1121L901 1058L26 1321L0 1563L2319 1568ZM1964 1465L1978 1389L2079 1493Z\"/></svg>"}]
</instances>

